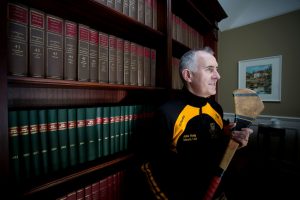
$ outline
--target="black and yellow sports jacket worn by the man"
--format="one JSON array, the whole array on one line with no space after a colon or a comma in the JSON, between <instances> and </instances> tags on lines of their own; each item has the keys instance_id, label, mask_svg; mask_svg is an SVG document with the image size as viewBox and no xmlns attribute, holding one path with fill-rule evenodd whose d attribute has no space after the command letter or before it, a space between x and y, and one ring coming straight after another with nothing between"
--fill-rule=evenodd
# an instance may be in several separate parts
<instances>
[{"instance_id":1,"label":"black and yellow sports jacket worn by the man","mask_svg":"<svg viewBox=\"0 0 300 200\"><path fill-rule=\"evenodd\" d=\"M229 139L221 106L184 88L154 120L150 158L142 169L157 199L202 199Z\"/></svg>"}]
</instances>

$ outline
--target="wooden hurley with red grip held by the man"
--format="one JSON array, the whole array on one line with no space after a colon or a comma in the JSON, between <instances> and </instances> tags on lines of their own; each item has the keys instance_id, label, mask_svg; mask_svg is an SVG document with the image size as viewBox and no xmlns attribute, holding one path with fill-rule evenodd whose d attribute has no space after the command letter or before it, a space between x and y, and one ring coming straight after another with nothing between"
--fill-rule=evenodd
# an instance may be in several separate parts
<instances>
[{"instance_id":1,"label":"wooden hurley with red grip held by the man","mask_svg":"<svg viewBox=\"0 0 300 200\"><path fill-rule=\"evenodd\" d=\"M256 94L250 89L236 89L233 91L233 99L235 106L235 123L234 130L241 130L249 127L257 116L263 111L264 104ZM203 200L211 200L221 182L221 178L231 162L235 151L238 149L239 143L230 139L225 150L221 163L219 165L218 174L216 174L208 187Z\"/></svg>"}]
</instances>

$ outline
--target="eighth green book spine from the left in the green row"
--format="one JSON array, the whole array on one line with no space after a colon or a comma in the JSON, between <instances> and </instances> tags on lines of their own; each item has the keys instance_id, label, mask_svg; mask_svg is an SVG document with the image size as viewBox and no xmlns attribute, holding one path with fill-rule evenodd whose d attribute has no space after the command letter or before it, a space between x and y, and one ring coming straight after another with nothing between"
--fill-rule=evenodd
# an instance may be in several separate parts
<instances>
[{"instance_id":1,"label":"eighth green book spine from the left in the green row","mask_svg":"<svg viewBox=\"0 0 300 200\"><path fill-rule=\"evenodd\" d=\"M77 108L77 142L78 161L86 162L86 130L85 130L85 108Z\"/></svg>"}]
</instances>

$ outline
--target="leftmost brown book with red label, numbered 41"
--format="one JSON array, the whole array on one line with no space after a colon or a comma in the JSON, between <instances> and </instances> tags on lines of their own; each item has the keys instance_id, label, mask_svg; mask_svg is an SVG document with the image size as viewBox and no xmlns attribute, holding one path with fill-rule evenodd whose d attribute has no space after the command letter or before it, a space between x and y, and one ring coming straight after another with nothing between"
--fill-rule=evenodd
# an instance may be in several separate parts
<instances>
[{"instance_id":1,"label":"leftmost brown book with red label, numbered 41","mask_svg":"<svg viewBox=\"0 0 300 200\"><path fill-rule=\"evenodd\" d=\"M8 3L8 73L28 74L28 7Z\"/></svg>"}]
</instances>

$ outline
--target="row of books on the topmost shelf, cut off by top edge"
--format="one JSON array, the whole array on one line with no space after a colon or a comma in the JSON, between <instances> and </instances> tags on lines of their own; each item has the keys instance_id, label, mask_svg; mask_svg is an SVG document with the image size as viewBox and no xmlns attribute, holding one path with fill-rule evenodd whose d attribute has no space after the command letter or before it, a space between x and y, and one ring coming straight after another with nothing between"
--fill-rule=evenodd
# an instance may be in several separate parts
<instances>
[{"instance_id":1,"label":"row of books on the topmost shelf, cut off by top edge","mask_svg":"<svg viewBox=\"0 0 300 200\"><path fill-rule=\"evenodd\" d=\"M157 30L157 0L94 0Z\"/></svg>"}]
</instances>

